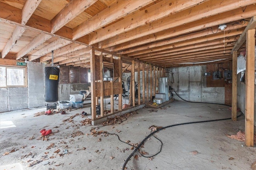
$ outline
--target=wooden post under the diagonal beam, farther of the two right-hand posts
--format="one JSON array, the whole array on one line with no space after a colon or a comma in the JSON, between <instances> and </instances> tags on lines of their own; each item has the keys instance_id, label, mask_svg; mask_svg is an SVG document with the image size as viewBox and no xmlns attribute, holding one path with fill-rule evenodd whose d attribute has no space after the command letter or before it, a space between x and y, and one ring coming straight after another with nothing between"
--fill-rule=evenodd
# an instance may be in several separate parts
<instances>
[{"instance_id":1,"label":"wooden post under the diagonal beam, farther of the two right-hand posts","mask_svg":"<svg viewBox=\"0 0 256 170\"><path fill-rule=\"evenodd\" d=\"M232 63L232 121L236 121L237 117L237 51L233 51Z\"/></svg>"}]
</instances>

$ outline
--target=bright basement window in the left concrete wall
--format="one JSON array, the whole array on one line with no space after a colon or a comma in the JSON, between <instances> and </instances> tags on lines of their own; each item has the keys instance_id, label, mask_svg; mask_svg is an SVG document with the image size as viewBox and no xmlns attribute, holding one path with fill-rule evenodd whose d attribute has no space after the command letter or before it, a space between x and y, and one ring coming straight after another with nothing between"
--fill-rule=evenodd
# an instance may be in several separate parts
<instances>
[{"instance_id":1,"label":"bright basement window in the left concrete wall","mask_svg":"<svg viewBox=\"0 0 256 170\"><path fill-rule=\"evenodd\" d=\"M0 88L26 87L26 67L0 66Z\"/></svg>"}]
</instances>

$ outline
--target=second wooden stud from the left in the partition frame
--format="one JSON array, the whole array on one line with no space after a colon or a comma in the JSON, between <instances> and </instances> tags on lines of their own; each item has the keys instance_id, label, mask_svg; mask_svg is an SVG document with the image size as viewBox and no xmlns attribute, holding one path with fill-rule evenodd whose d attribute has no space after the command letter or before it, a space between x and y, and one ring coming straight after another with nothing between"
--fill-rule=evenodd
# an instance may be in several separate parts
<instances>
[{"instance_id":1,"label":"second wooden stud from the left in the partition frame","mask_svg":"<svg viewBox=\"0 0 256 170\"><path fill-rule=\"evenodd\" d=\"M100 52L100 116L104 115L103 57Z\"/></svg>"}]
</instances>

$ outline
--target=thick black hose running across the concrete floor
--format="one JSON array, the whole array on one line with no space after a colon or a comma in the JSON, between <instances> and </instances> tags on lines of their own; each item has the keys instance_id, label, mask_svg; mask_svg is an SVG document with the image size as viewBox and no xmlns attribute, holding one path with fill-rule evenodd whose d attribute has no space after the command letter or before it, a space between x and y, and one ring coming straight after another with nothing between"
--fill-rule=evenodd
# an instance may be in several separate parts
<instances>
[{"instance_id":1,"label":"thick black hose running across the concrete floor","mask_svg":"<svg viewBox=\"0 0 256 170\"><path fill-rule=\"evenodd\" d=\"M175 91L174 91L175 92ZM176 92L175 92L176 93ZM177 93L176 93L177 94ZM178 94L177 96L179 98L181 98ZM181 98L182 99L182 98ZM184 100L184 99L182 99ZM184 100L186 102L190 102L190 101L187 101L187 100ZM191 103L206 103L206 102L191 102ZM217 103L206 103L206 104L217 104ZM225 105L225 104L220 104L220 105L224 105L224 106L228 106L228 105ZM242 115L242 113L240 113L240 115L238 115L237 117L240 117ZM128 161L130 160L130 158L134 155L134 153L136 151L138 151L138 149L144 144L144 142L152 135L154 135L154 133L158 132L158 131L161 131L163 129L166 129L168 127L174 127L174 126L179 126L179 125L188 125L188 124L193 124L193 123L205 123L205 122L211 122L211 121L221 121L221 120L228 120L228 119L232 119L231 117L230 118L224 118L224 119L213 119L213 120L206 120L206 121L193 121L193 122L186 122L186 123L178 123L178 124L174 124L174 125L168 125L168 126L165 126L165 127L162 127L160 129L157 129L156 131L153 131L151 132L148 136L146 136L142 141L141 143L133 150L133 152L128 156L128 158L125 160L123 166L122 166L122 170L125 170L125 166L126 164L128 163Z\"/></svg>"}]
</instances>

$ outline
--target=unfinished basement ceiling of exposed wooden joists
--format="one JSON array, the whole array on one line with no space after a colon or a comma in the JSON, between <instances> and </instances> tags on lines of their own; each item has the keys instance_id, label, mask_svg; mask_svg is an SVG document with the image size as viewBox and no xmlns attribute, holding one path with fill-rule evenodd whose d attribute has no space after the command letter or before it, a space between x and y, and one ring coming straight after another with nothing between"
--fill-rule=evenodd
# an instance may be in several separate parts
<instances>
[{"instance_id":1,"label":"unfinished basement ceiling of exposed wooden joists","mask_svg":"<svg viewBox=\"0 0 256 170\"><path fill-rule=\"evenodd\" d=\"M255 3L0 0L1 57L50 62L54 51L55 64L90 67L90 49L96 47L165 68L229 62L236 41L256 16ZM226 29L218 29L220 24Z\"/></svg>"}]
</instances>

